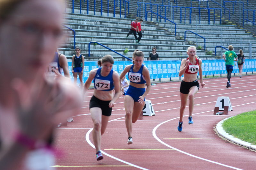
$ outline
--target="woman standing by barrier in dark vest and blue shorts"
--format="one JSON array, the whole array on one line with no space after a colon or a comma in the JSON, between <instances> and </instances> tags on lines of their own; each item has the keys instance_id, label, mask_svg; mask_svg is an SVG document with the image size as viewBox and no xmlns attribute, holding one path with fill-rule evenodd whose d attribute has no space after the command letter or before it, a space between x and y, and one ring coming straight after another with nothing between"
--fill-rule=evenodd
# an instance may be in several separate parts
<instances>
[{"instance_id":1,"label":"woman standing by barrier in dark vest and blue shorts","mask_svg":"<svg viewBox=\"0 0 256 170\"><path fill-rule=\"evenodd\" d=\"M74 84L76 85L77 73L80 80L80 87L83 88L83 73L84 73L84 56L80 54L81 50L76 47L76 54L72 57L72 73L74 75Z\"/></svg>"}]
</instances>

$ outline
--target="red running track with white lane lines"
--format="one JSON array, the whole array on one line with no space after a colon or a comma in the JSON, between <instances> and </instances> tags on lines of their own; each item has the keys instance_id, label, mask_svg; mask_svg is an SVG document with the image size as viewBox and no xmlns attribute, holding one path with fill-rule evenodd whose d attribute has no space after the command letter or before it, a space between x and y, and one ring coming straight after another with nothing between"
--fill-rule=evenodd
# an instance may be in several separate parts
<instances>
[{"instance_id":1,"label":"red running track with white lane lines","mask_svg":"<svg viewBox=\"0 0 256 170\"><path fill-rule=\"evenodd\" d=\"M221 120L246 111L255 110L256 76L204 79L204 88L195 96L193 125L188 125L185 109L183 130L179 132L180 82L152 86L147 100L151 100L155 116L143 116L133 124L133 144L127 145L124 122L124 98L113 108L105 134L102 136L103 160L97 161L92 142L92 120L88 101L74 122L57 129L56 147L63 151L56 162L58 170L226 170L256 169L256 152L229 143L215 134L214 127ZM233 111L228 115L213 115L218 96L230 98Z\"/></svg>"}]
</instances>

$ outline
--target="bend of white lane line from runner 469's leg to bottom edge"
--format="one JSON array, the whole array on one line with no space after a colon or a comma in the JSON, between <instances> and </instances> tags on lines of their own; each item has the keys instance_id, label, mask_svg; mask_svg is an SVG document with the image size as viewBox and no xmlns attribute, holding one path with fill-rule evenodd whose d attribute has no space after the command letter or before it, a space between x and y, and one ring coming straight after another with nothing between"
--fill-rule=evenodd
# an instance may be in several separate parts
<instances>
[{"instance_id":1,"label":"bend of white lane line from runner 469's leg to bottom edge","mask_svg":"<svg viewBox=\"0 0 256 170\"><path fill-rule=\"evenodd\" d=\"M204 113L204 112L203 112L203 113ZM219 162L215 162L215 161L212 161L212 160L209 160L209 159L204 159L204 158L201 158L201 157L192 155L192 154L190 154L190 153L188 153L188 152L181 151L181 150L179 150L179 149L177 149L177 148L174 148L174 147L172 147L172 146L170 146L170 145L164 143L163 141L161 141L161 140L156 136L156 129L157 129L159 126L161 126L162 124L164 124L164 123L166 123L166 122L169 122L169 121L172 121L172 120L174 120L174 119L178 119L178 118L180 118L180 117L176 117L176 118L167 120L167 121L165 121L165 122L162 122L162 123L158 124L158 125L153 129L153 131L152 131L153 136L156 138L156 140L157 140L158 142L160 142L161 144L164 144L165 146L167 146L167 147L169 147L169 148L172 148L172 149L174 149L174 150L176 150L176 151L178 151L178 152L184 153L184 154L186 154L186 155L188 155L188 156L191 156L191 157L194 157L194 158L197 158L197 159L201 159L201 160L205 160L205 161L207 161L207 162L211 162L211 163L218 164L218 165L221 165L221 166L226 166L226 167L229 167L229 168L232 168L232 169L242 170L242 169L239 169L239 168L236 168L236 167L233 167L233 166L228 166L228 165L225 165L225 164L221 164L221 163L219 163Z\"/></svg>"}]
</instances>

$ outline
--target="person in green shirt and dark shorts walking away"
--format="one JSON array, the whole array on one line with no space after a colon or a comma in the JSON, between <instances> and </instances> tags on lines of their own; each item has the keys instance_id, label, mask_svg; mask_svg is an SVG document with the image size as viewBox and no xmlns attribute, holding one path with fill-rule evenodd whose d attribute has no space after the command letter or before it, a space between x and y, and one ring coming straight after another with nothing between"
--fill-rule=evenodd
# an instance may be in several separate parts
<instances>
[{"instance_id":1,"label":"person in green shirt and dark shorts walking away","mask_svg":"<svg viewBox=\"0 0 256 170\"><path fill-rule=\"evenodd\" d=\"M228 71L228 82L227 82L227 86L226 86L227 88L231 87L231 84L230 84L231 73L233 71L234 61L237 61L237 55L236 55L236 53L234 51L232 51L233 50L233 46L229 45L228 49L229 49L229 51L226 51L223 54L223 58L224 58L224 60L226 62L226 69Z\"/></svg>"}]
</instances>

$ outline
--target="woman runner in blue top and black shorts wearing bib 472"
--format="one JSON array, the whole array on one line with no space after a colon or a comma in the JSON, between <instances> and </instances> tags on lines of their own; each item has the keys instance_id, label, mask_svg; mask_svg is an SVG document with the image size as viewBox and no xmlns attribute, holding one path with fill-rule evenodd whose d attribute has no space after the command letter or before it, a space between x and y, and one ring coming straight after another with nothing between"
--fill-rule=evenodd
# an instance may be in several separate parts
<instances>
[{"instance_id":1,"label":"woman runner in blue top and black shorts wearing bib 472","mask_svg":"<svg viewBox=\"0 0 256 170\"><path fill-rule=\"evenodd\" d=\"M96 149L96 159L101 160L100 152L101 135L105 132L111 115L112 107L120 96L119 75L112 70L114 59L111 55L105 55L98 61L101 68L91 70L84 84L84 93L94 82L94 92L90 100L90 113L94 124L92 138ZM115 94L113 90L115 89ZM84 94L83 93L83 94Z\"/></svg>"}]
</instances>

